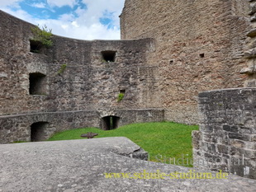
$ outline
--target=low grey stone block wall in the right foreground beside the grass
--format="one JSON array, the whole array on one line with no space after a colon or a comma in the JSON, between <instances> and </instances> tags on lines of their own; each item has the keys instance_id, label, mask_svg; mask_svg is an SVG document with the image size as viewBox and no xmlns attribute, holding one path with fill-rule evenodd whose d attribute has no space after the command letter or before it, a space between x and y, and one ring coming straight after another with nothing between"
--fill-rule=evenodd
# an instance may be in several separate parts
<instances>
[{"instance_id":1,"label":"low grey stone block wall in the right foreground beside the grass","mask_svg":"<svg viewBox=\"0 0 256 192\"><path fill-rule=\"evenodd\" d=\"M256 88L204 91L198 101L195 166L256 179Z\"/></svg>"}]
</instances>

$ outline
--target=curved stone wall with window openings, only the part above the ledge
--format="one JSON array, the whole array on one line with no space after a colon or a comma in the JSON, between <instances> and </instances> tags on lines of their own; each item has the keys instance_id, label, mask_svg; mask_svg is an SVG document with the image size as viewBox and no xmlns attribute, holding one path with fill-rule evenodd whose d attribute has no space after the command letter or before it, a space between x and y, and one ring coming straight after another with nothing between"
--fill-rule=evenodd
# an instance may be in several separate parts
<instances>
[{"instance_id":1,"label":"curved stone wall with window openings, only the part above the ledge","mask_svg":"<svg viewBox=\"0 0 256 192\"><path fill-rule=\"evenodd\" d=\"M54 46L46 54L35 54L29 43L33 26L0 14L0 115L155 107L151 101L158 71L147 64L145 56L152 46L150 39L83 41L55 36ZM116 61L102 62L104 50L116 51ZM67 67L58 74L63 65ZM46 75L45 94L29 94L29 73ZM126 90L126 96L117 102L121 90Z\"/></svg>"}]
</instances>

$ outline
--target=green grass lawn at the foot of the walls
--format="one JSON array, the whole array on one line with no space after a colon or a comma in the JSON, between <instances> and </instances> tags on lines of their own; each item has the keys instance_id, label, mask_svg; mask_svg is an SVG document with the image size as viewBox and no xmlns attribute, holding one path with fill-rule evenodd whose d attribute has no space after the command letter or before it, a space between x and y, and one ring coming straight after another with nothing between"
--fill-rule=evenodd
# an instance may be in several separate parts
<instances>
[{"instance_id":1,"label":"green grass lawn at the foot of the walls","mask_svg":"<svg viewBox=\"0 0 256 192\"><path fill-rule=\"evenodd\" d=\"M192 159L192 130L198 130L198 126L170 122L129 124L109 131L96 128L67 130L56 133L49 141L87 139L80 135L88 132L98 133L95 138L126 137L149 152L150 161L173 164L173 158L176 162L183 157Z\"/></svg>"}]
</instances>

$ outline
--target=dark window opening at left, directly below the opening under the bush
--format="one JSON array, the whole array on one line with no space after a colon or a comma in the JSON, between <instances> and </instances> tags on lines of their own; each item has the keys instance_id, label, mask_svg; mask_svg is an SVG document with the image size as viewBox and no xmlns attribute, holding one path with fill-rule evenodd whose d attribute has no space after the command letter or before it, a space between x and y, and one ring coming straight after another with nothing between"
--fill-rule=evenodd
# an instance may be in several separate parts
<instances>
[{"instance_id":1,"label":"dark window opening at left, directly below the opening under the bush","mask_svg":"<svg viewBox=\"0 0 256 192\"><path fill-rule=\"evenodd\" d=\"M46 94L46 76L42 73L30 73L30 95Z\"/></svg>"}]
</instances>

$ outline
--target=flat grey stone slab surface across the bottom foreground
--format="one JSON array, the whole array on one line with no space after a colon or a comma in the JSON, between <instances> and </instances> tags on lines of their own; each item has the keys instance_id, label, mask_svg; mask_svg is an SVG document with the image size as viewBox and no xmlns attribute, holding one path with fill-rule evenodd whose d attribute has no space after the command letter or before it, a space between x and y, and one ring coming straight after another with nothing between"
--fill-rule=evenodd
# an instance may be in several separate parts
<instances>
[{"instance_id":1,"label":"flat grey stone slab surface across the bottom foreground","mask_svg":"<svg viewBox=\"0 0 256 192\"><path fill-rule=\"evenodd\" d=\"M105 173L188 172L191 168L146 162L128 138L0 145L0 191L255 191L256 180L106 178ZM138 175L138 174L137 174ZM130 175L135 177L134 175Z\"/></svg>"}]
</instances>

